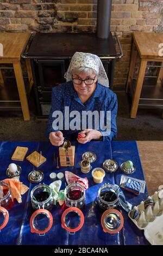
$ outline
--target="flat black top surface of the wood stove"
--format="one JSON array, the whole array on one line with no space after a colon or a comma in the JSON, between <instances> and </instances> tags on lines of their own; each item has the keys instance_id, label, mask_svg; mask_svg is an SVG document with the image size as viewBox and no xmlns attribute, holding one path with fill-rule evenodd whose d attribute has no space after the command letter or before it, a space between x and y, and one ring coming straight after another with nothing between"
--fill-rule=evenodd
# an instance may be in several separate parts
<instances>
[{"instance_id":1,"label":"flat black top surface of the wood stove","mask_svg":"<svg viewBox=\"0 0 163 256\"><path fill-rule=\"evenodd\" d=\"M89 52L99 57L116 56L114 39L97 38L95 33L36 33L28 57L71 58L74 52Z\"/></svg>"}]
</instances>

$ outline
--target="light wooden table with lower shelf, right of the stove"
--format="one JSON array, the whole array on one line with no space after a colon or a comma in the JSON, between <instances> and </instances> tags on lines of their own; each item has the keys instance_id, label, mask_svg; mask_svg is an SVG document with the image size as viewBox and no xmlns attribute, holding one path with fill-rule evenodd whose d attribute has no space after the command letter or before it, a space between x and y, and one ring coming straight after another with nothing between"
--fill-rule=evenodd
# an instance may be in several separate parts
<instances>
[{"instance_id":1,"label":"light wooden table with lower shelf, right of the stove","mask_svg":"<svg viewBox=\"0 0 163 256\"><path fill-rule=\"evenodd\" d=\"M126 92L130 88L133 103L131 106L130 117L135 118L138 105L141 107L163 108L163 90L161 87L161 79L163 78L163 67L159 68L156 86L146 88L143 85L147 62L161 62L163 66L163 56L159 56L159 44L163 43L163 33L133 33L133 45L131 50L130 69L127 81ZM140 57L139 73L137 74L136 84L134 84L133 76L136 64L137 52ZM142 92L142 94L141 94Z\"/></svg>"}]
</instances>

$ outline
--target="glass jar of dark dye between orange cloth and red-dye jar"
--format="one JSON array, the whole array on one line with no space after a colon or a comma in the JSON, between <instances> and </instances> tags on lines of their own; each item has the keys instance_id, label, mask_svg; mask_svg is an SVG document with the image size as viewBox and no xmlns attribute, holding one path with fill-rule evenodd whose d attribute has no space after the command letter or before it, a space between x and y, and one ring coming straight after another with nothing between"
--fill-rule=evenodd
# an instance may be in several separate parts
<instances>
[{"instance_id":1,"label":"glass jar of dark dye between orange cloth and red-dye jar","mask_svg":"<svg viewBox=\"0 0 163 256\"><path fill-rule=\"evenodd\" d=\"M35 186L30 193L30 199L35 210L51 210L53 207L52 190L46 184Z\"/></svg>"}]
</instances>

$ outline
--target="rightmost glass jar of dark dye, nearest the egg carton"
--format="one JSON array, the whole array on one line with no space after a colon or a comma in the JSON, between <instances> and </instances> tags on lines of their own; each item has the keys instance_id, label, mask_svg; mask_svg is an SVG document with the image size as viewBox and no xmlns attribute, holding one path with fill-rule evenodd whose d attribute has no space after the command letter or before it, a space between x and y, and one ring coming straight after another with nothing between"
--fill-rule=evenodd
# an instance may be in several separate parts
<instances>
[{"instance_id":1,"label":"rightmost glass jar of dark dye, nearest the egg carton","mask_svg":"<svg viewBox=\"0 0 163 256\"><path fill-rule=\"evenodd\" d=\"M98 190L97 203L103 210L116 208L118 205L120 205L120 197L117 186L109 183L104 184Z\"/></svg>"}]
</instances>

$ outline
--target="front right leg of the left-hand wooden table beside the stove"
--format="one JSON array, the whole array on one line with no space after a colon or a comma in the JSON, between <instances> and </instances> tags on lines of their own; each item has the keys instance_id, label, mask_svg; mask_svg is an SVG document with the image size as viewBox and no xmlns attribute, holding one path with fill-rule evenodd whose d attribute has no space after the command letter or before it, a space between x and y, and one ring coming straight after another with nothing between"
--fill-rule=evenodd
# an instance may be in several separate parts
<instances>
[{"instance_id":1,"label":"front right leg of the left-hand wooden table beside the stove","mask_svg":"<svg viewBox=\"0 0 163 256\"><path fill-rule=\"evenodd\" d=\"M17 82L18 94L20 96L24 121L29 121L30 120L29 108L28 108L26 89L24 86L24 80L23 80L20 61L14 61L13 66L14 66L15 78Z\"/></svg>"}]
</instances>

